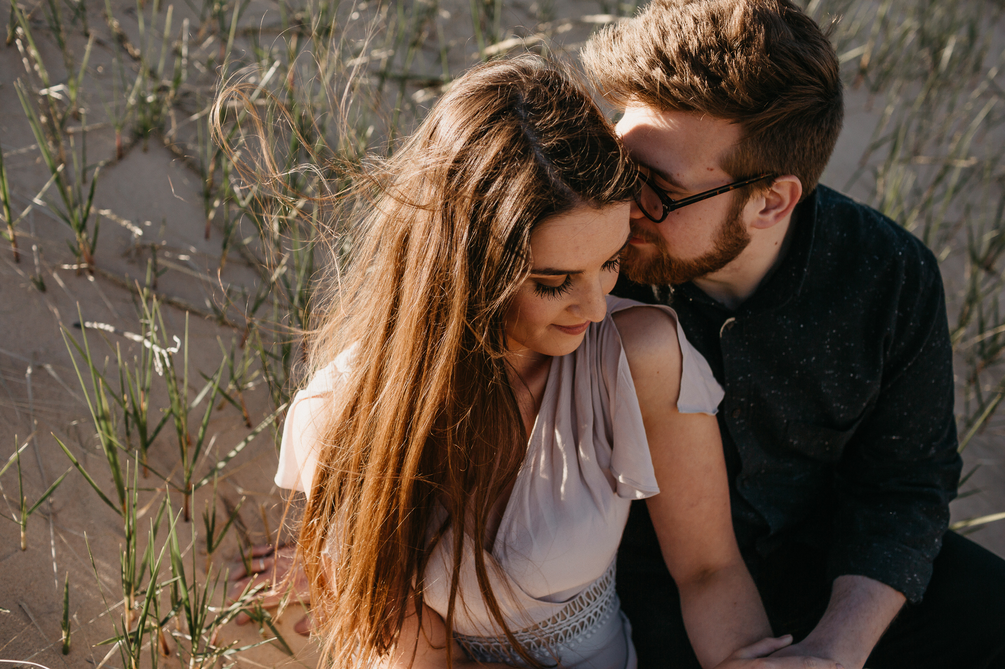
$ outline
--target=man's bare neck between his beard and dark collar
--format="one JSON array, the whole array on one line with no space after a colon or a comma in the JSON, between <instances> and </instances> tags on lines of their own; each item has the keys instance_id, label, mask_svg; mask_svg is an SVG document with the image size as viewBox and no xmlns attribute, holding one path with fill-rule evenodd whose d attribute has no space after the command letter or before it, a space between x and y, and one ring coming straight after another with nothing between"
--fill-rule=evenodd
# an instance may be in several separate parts
<instances>
[{"instance_id":1,"label":"man's bare neck between his beard and dark collar","mask_svg":"<svg viewBox=\"0 0 1005 669\"><path fill-rule=\"evenodd\" d=\"M792 243L795 214L768 230L757 231L747 248L723 269L694 279L694 285L731 311L757 291L778 267Z\"/></svg>"}]
</instances>

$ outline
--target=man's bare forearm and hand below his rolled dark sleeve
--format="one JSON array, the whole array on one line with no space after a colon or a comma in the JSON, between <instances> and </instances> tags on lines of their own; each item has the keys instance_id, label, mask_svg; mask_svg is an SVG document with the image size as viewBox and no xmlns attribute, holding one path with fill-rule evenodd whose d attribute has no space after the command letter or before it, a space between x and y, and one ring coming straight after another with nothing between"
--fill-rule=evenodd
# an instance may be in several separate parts
<instances>
[{"instance_id":1,"label":"man's bare forearm and hand below his rolled dark sleeve","mask_svg":"<svg viewBox=\"0 0 1005 669\"><path fill-rule=\"evenodd\" d=\"M820 622L798 644L771 657L813 655L861 669L872 648L903 606L904 597L865 576L839 576Z\"/></svg>"}]
</instances>

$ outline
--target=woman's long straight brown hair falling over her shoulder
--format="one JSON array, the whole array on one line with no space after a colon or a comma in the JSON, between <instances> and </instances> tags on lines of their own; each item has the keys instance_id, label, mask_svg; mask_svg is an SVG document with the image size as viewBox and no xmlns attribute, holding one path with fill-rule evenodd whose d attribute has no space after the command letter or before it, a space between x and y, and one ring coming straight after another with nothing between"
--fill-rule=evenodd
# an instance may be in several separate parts
<instances>
[{"instance_id":1,"label":"woman's long straight brown hair falling over her shoulder","mask_svg":"<svg viewBox=\"0 0 1005 669\"><path fill-rule=\"evenodd\" d=\"M298 545L324 655L340 669L414 647L400 638L408 599L421 617L426 564L451 530L447 638L469 541L481 596L515 642L484 557L489 511L528 439L504 314L530 269L536 225L624 202L634 186L582 86L530 55L457 79L375 177L372 211L310 349L321 369L355 347Z\"/></svg>"}]
</instances>

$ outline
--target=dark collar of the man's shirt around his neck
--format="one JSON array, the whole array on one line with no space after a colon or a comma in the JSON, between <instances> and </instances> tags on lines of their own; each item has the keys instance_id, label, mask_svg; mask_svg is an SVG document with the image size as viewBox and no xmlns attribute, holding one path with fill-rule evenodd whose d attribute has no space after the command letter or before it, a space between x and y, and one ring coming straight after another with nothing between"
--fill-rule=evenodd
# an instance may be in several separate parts
<instances>
[{"instance_id":1,"label":"dark collar of the man's shirt around his neck","mask_svg":"<svg viewBox=\"0 0 1005 669\"><path fill-rule=\"evenodd\" d=\"M754 314L779 309L802 292L806 276L809 274L813 241L816 238L819 194L820 189L814 189L796 206L792 217L795 230L788 252L735 313ZM709 297L692 282L675 286L674 292L679 292L682 297L692 302L727 311L726 307Z\"/></svg>"}]
</instances>

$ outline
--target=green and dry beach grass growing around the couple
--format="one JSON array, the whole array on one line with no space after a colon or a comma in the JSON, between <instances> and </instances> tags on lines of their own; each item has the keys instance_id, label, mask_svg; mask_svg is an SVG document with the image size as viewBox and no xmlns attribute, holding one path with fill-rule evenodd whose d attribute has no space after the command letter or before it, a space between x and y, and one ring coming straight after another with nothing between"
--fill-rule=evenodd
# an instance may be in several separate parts
<instances>
[{"instance_id":1,"label":"green and dry beach grass growing around the couple","mask_svg":"<svg viewBox=\"0 0 1005 669\"><path fill-rule=\"evenodd\" d=\"M1005 399L1001 8L987 0L803 4L821 23L836 21L831 37L846 85L866 93L878 111L858 169L833 186L862 194L928 244L945 267L962 268L962 279L948 286L963 449L994 422ZM121 592L106 605L109 611L123 605L109 616L108 645L124 668L169 661L190 669L229 666L257 645L225 639L225 625L241 611L262 631L258 643L289 651L271 614L254 604L255 589L234 601L223 597L227 572L218 557L225 539L242 557L251 547L244 533L235 536L245 497L218 520L217 481L257 435L275 437L303 380L304 333L324 306L325 282L352 251L352 230L340 214L354 203L339 197L360 185L357 168L392 154L469 65L522 49L561 55L563 43L569 48L564 36L585 37L637 9L542 0L531 7L509 0L278 0L258 14L248 0L10 6L8 42L24 65L15 90L46 175L28 185L28 204L18 205L0 155L0 217L12 260L19 260L18 237L28 236L22 223L44 210L70 231L77 273L110 278L136 298L135 332L82 315L78 333L63 330L100 447L100 471L52 436L94 498L122 522ZM97 75L98 48L111 59L103 65L111 76ZM224 80L235 87L218 99ZM88 157L88 114L113 132L108 154ZM95 209L95 193L106 187L103 168L158 142L199 184L200 234L219 249L200 280L213 292L205 309L172 294L179 261L144 236L151 228ZM146 258L144 281L112 276L96 260L103 218L132 232L131 253ZM33 245L47 244L31 237ZM35 259L37 266L37 251ZM223 279L235 264L249 271L245 284ZM165 310L186 312L184 328L172 329ZM194 317L226 333L218 339L219 362L208 369L190 365ZM109 341L108 350L95 350L99 344L88 332ZM268 406L256 415L244 394L257 384L267 388ZM208 425L218 407L239 416L244 432L211 458ZM169 422L173 430L164 429ZM20 472L27 444L4 470ZM150 456L168 448L179 464L157 470ZM28 518L64 476L31 504L19 486L10 520L20 527L22 545ZM149 476L159 489L144 483ZM192 522L191 499L209 484L200 527ZM141 529L137 509L149 505L157 512ZM1001 518L969 519L959 529ZM202 565L197 544L205 547ZM68 583L67 577L62 648L72 655L78 645L69 645Z\"/></svg>"}]
</instances>

